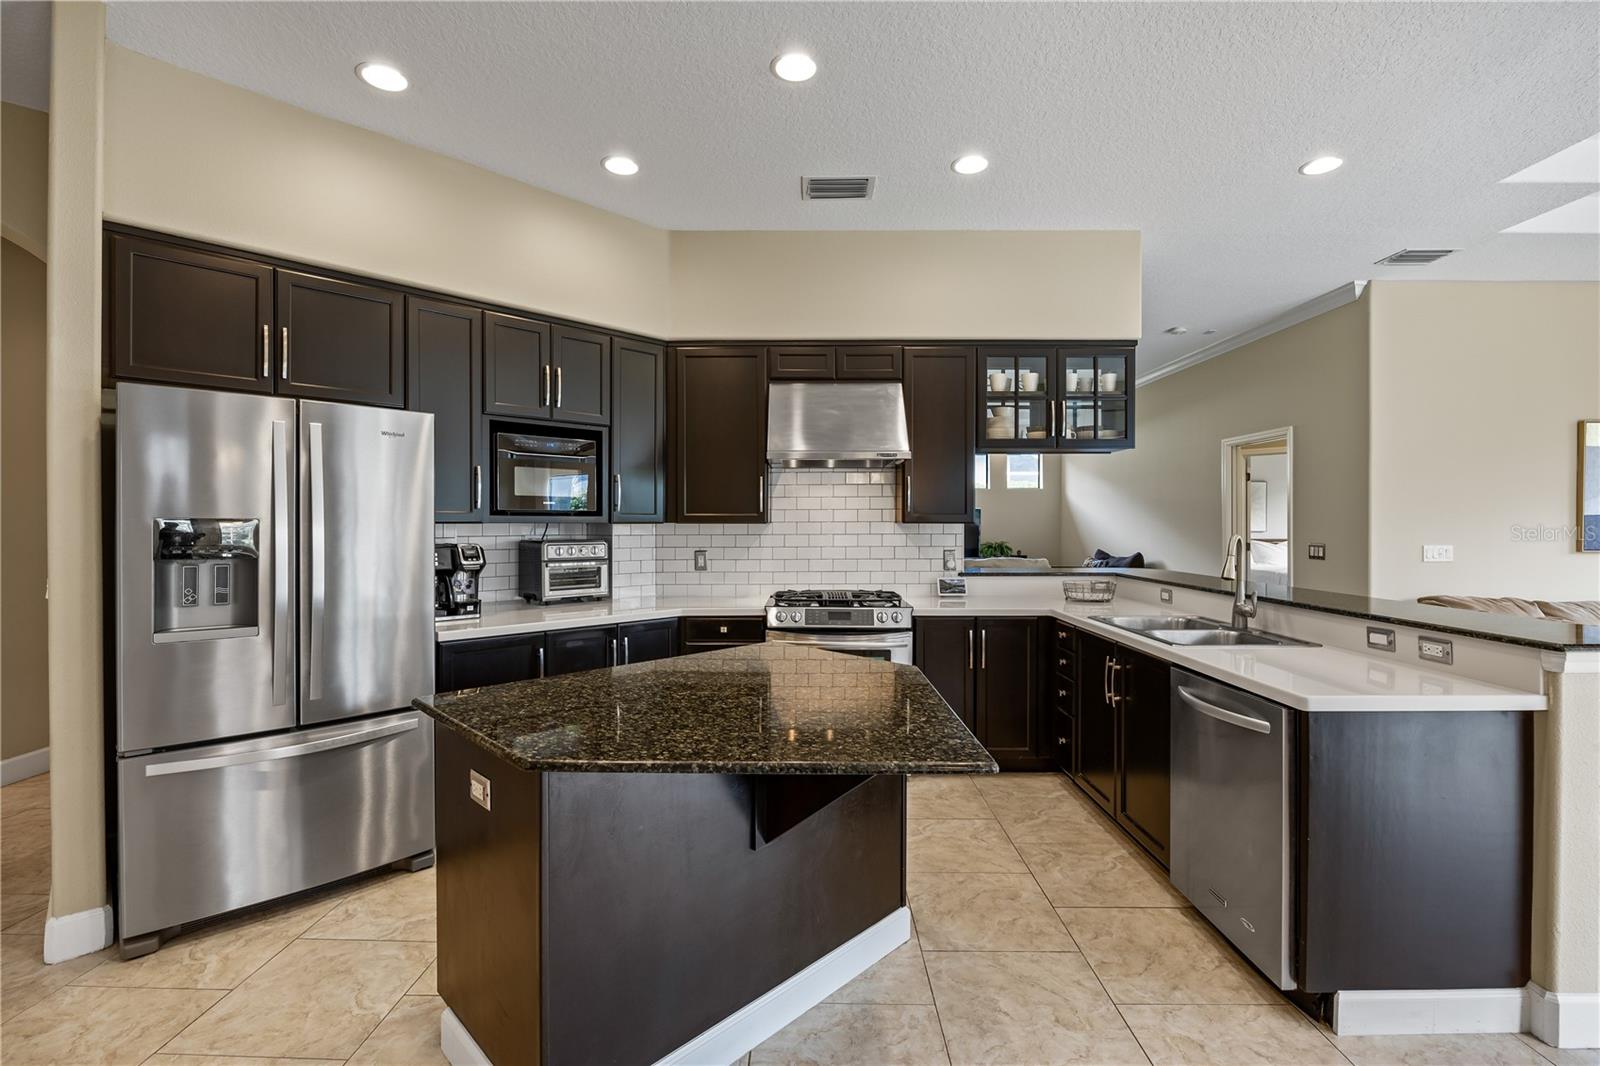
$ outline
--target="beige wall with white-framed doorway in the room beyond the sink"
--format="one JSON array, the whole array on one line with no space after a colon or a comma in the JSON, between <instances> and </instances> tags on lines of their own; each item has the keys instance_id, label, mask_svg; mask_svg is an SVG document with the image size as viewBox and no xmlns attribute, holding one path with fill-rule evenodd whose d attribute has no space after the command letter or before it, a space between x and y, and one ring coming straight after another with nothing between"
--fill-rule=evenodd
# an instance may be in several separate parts
<instances>
[{"instance_id":1,"label":"beige wall with white-framed doorway in the room beyond the sink","mask_svg":"<svg viewBox=\"0 0 1600 1066\"><path fill-rule=\"evenodd\" d=\"M1218 573L1222 440L1293 426L1294 583L1365 592L1366 317L1363 298L1139 389L1133 451L1067 458L1061 557Z\"/></svg>"}]
</instances>

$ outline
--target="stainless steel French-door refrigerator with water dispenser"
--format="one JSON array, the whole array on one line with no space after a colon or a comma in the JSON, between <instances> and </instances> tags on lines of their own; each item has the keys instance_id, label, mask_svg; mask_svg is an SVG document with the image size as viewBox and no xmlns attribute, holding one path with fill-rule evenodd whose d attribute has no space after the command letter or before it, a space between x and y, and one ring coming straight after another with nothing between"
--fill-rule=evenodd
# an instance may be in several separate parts
<instances>
[{"instance_id":1,"label":"stainless steel French-door refrigerator with water dispenser","mask_svg":"<svg viewBox=\"0 0 1600 1066\"><path fill-rule=\"evenodd\" d=\"M117 386L123 956L434 848L434 418Z\"/></svg>"}]
</instances>

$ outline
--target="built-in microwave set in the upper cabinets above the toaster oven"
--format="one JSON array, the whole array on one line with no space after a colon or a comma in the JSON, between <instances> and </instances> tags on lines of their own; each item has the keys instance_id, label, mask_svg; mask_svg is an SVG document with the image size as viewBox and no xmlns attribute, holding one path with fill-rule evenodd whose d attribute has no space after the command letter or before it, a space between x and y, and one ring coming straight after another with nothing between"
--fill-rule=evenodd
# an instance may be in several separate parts
<instances>
[{"instance_id":1,"label":"built-in microwave set in the upper cabinets above the toaster oven","mask_svg":"<svg viewBox=\"0 0 1600 1066\"><path fill-rule=\"evenodd\" d=\"M605 515L605 431L490 423L493 514L536 519Z\"/></svg>"}]
</instances>

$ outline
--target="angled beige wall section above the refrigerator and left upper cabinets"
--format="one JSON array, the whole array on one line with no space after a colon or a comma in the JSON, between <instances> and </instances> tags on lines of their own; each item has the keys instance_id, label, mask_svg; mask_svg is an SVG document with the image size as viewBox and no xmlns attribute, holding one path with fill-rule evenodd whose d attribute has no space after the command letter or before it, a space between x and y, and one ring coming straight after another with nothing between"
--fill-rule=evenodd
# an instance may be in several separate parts
<instances>
[{"instance_id":1,"label":"angled beige wall section above the refrigerator and left upper cabinets","mask_svg":"<svg viewBox=\"0 0 1600 1066\"><path fill-rule=\"evenodd\" d=\"M666 336L667 232L106 46L106 216Z\"/></svg>"}]
</instances>

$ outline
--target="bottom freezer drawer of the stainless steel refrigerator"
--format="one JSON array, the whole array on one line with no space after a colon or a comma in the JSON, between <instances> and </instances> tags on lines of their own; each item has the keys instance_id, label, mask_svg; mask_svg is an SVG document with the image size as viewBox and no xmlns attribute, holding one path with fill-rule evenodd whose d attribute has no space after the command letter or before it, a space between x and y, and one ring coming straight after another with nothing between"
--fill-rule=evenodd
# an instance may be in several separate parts
<instances>
[{"instance_id":1,"label":"bottom freezer drawer of the stainless steel refrigerator","mask_svg":"<svg viewBox=\"0 0 1600 1066\"><path fill-rule=\"evenodd\" d=\"M117 760L122 938L434 847L434 723L416 711Z\"/></svg>"}]
</instances>

